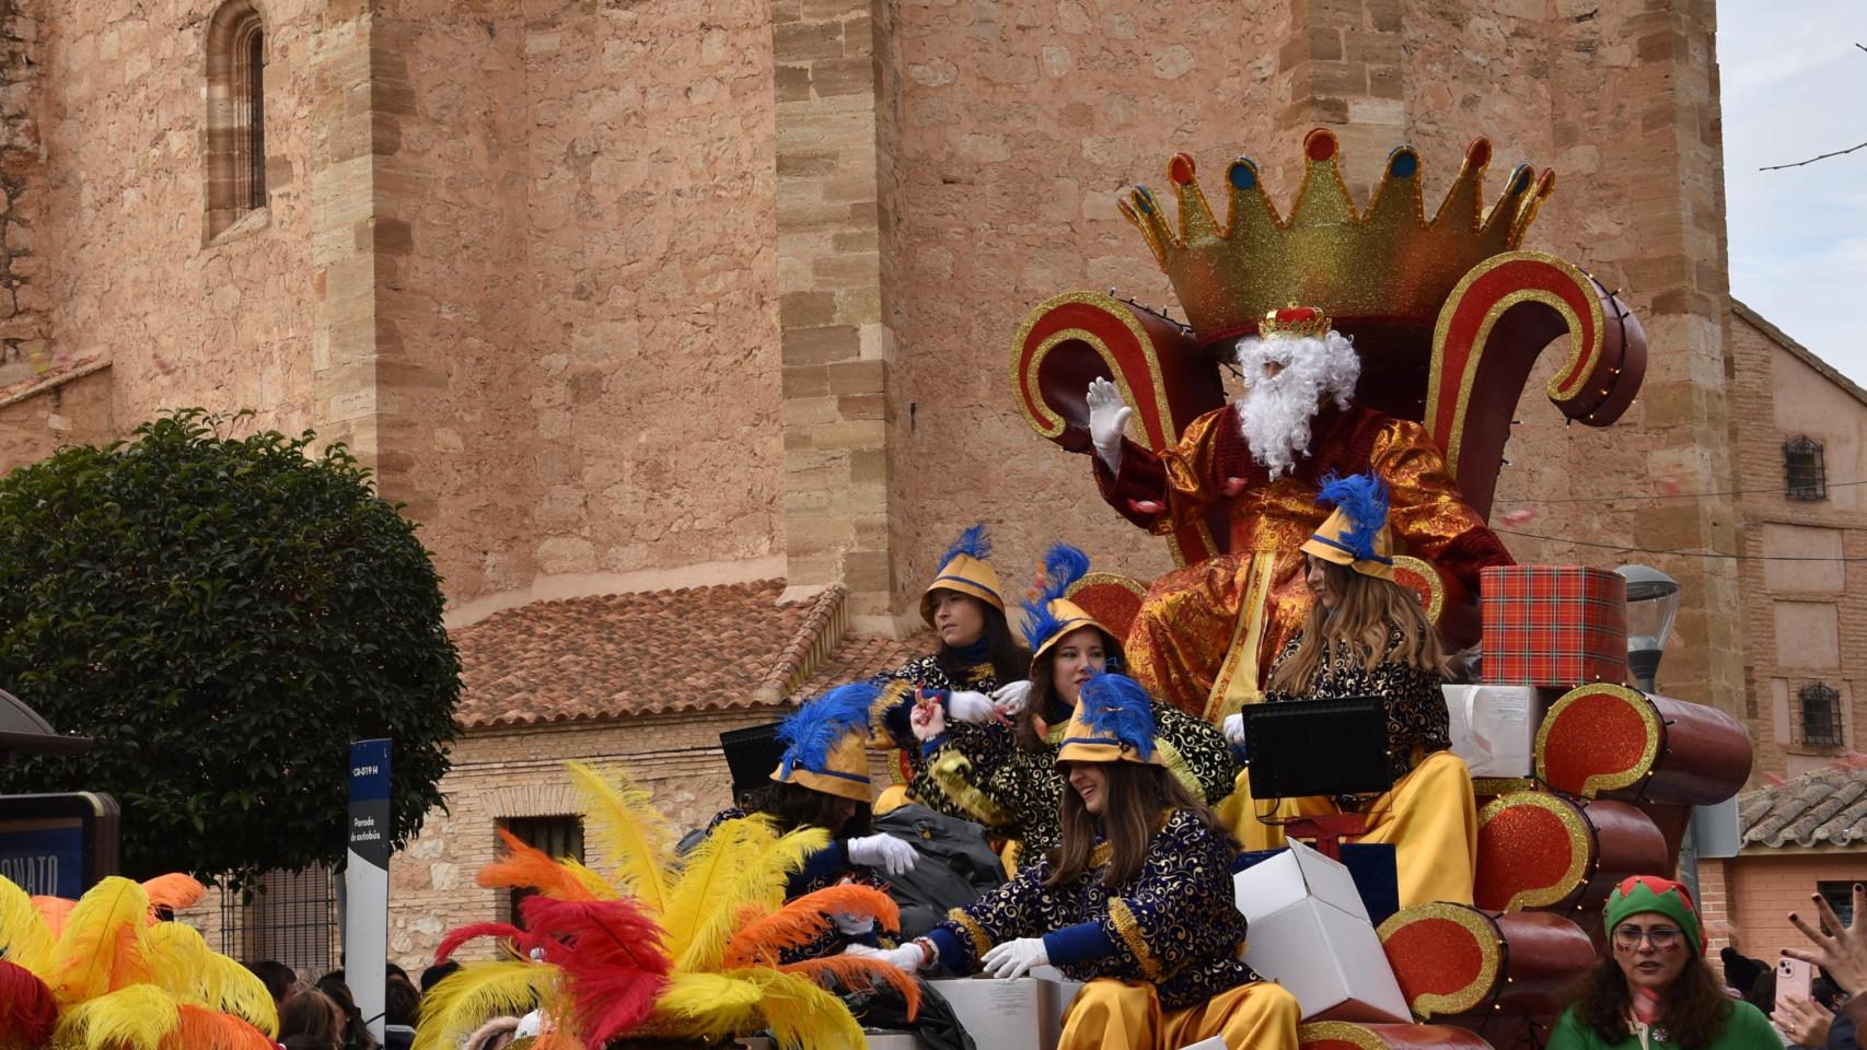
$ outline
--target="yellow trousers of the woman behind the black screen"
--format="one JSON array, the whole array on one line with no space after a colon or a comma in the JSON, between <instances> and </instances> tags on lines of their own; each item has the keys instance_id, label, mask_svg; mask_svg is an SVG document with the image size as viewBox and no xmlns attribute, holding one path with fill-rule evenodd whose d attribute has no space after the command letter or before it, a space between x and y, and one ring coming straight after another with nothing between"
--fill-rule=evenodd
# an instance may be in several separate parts
<instances>
[{"instance_id":1,"label":"yellow trousers of the woman behind the black screen","mask_svg":"<svg viewBox=\"0 0 1867 1050\"><path fill-rule=\"evenodd\" d=\"M1283 798L1264 817L1314 817L1339 813L1329 798ZM1352 843L1389 843L1400 877L1400 906L1451 901L1471 903L1471 871L1479 862L1479 804L1471 772L1453 752L1426 755L1367 808L1369 830ZM1249 770L1238 774L1238 791L1221 806L1232 834L1245 849L1281 849L1283 828L1264 824L1251 798Z\"/></svg>"}]
</instances>

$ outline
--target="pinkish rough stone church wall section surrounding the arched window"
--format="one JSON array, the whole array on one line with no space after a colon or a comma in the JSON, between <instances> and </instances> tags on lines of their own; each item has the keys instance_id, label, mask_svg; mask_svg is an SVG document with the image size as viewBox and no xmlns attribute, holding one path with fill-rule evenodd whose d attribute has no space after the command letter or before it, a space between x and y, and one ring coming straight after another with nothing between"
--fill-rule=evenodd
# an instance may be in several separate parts
<instances>
[{"instance_id":1,"label":"pinkish rough stone church wall section surrounding the arched window","mask_svg":"<svg viewBox=\"0 0 1867 1050\"><path fill-rule=\"evenodd\" d=\"M204 86L215 4L24 7L39 37L45 162L24 187L34 256L13 263L30 263L32 276L15 289L19 310L45 317L54 358L114 362L114 416L125 427L179 405L256 408L256 425L288 433L312 425L312 4L265 4L271 203L209 246Z\"/></svg>"}]
</instances>

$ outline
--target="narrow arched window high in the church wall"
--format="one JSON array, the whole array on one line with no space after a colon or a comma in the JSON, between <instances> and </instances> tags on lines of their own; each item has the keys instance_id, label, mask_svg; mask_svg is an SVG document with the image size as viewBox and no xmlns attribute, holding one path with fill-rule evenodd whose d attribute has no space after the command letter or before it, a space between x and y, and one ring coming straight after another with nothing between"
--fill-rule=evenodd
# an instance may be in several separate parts
<instances>
[{"instance_id":1,"label":"narrow arched window high in the church wall","mask_svg":"<svg viewBox=\"0 0 1867 1050\"><path fill-rule=\"evenodd\" d=\"M205 241L265 207L265 22L250 0L207 21Z\"/></svg>"}]
</instances>

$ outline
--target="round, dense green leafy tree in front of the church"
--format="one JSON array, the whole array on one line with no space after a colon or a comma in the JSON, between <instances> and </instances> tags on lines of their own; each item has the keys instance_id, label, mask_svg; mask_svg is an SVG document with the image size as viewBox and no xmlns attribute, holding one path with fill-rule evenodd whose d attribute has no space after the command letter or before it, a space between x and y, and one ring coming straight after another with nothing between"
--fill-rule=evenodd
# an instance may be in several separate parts
<instances>
[{"instance_id":1,"label":"round, dense green leafy tree in front of the church","mask_svg":"<svg viewBox=\"0 0 1867 1050\"><path fill-rule=\"evenodd\" d=\"M97 740L0 793L112 793L136 877L336 863L355 739L394 740L396 847L448 770L459 660L414 526L342 446L228 423L177 410L0 477L0 688Z\"/></svg>"}]
</instances>

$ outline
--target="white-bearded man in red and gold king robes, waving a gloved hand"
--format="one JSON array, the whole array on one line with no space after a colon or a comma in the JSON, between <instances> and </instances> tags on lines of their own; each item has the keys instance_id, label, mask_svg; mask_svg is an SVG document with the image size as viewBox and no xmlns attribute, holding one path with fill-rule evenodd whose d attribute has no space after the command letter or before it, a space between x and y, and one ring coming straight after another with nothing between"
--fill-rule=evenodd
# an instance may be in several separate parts
<instances>
[{"instance_id":1,"label":"white-bearded man in red and gold king robes, waving a gloved hand","mask_svg":"<svg viewBox=\"0 0 1867 1050\"><path fill-rule=\"evenodd\" d=\"M1380 477L1400 550L1469 593L1481 569L1510 565L1425 427L1354 401L1361 360L1320 310L1273 310L1238 339L1238 366L1245 395L1193 420L1161 453L1122 436L1131 408L1113 382L1088 390L1096 483L1122 517L1165 535L1230 500L1232 552L1156 580L1128 638L1135 679L1212 722L1258 699L1309 612L1301 546L1329 517L1316 502L1322 477Z\"/></svg>"}]
</instances>

